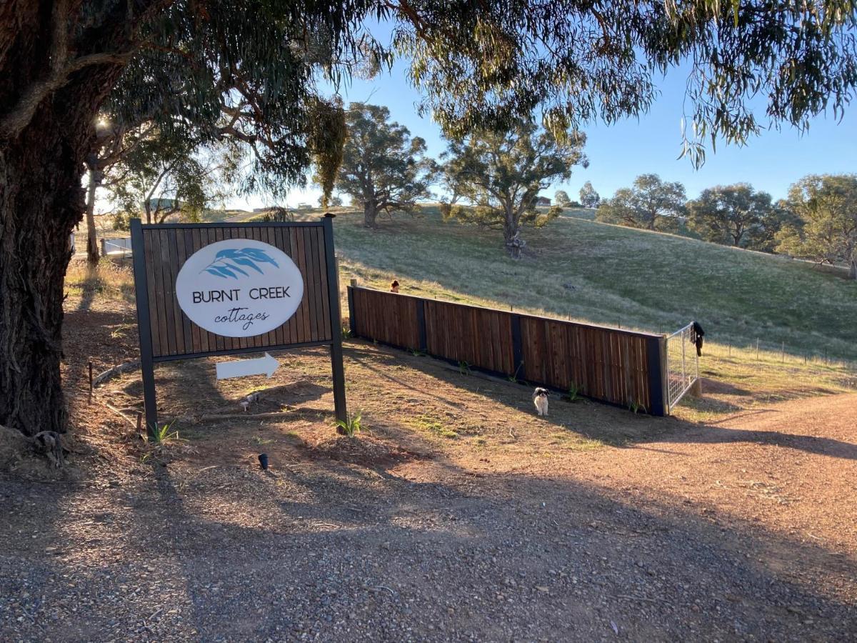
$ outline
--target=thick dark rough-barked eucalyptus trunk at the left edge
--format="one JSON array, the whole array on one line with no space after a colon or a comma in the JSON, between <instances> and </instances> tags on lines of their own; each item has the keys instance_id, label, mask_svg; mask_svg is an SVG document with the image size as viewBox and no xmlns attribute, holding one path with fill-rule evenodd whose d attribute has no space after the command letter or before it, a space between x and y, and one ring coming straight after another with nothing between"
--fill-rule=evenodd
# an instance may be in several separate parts
<instances>
[{"instance_id":1,"label":"thick dark rough-barked eucalyptus trunk at the left edge","mask_svg":"<svg viewBox=\"0 0 857 643\"><path fill-rule=\"evenodd\" d=\"M50 59L33 51L15 50L0 67L3 89L13 92L0 105L0 424L27 436L67 429L60 362L69 234L86 208L81 179L93 123L122 70L93 64L49 98L16 103L9 95L26 95L47 74Z\"/></svg>"}]
</instances>

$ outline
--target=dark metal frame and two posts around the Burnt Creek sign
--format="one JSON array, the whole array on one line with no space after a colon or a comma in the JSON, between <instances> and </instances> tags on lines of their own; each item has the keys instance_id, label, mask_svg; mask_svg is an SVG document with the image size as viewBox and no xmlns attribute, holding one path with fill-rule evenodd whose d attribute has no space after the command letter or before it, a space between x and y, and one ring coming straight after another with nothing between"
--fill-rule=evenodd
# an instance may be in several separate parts
<instances>
[{"instance_id":1,"label":"dark metal frame and two posts around the Burnt Creek sign","mask_svg":"<svg viewBox=\"0 0 857 643\"><path fill-rule=\"evenodd\" d=\"M329 340L300 341L285 344L266 344L264 346L247 346L222 350L199 352L183 352L177 355L155 355L152 341L152 319L149 307L149 286L147 260L158 261L158 257L149 258L146 255L143 233L147 230L211 230L216 228L250 229L250 228L321 228L324 236L324 266L320 268L327 276L327 309L330 315L331 337ZM231 237L244 238L244 237ZM210 243L203 244L208 245ZM345 406L345 369L342 363L342 315L339 309L339 273L336 266L336 255L333 250L333 215L326 215L320 221L300 221L292 223L255 222L255 223L207 223L207 224L151 224L144 225L140 219L131 219L131 248L134 257L134 280L137 306L137 328L140 335L140 362L143 380L143 402L146 407L146 425L149 436L158 426L158 406L155 392L154 366L159 362L180 359L207 358L218 355L234 355L238 353L285 351L305 346L330 346L331 366L333 368L333 404L338 420L347 419ZM288 253L287 253L288 254ZM162 259L161 259L162 261ZM181 267L181 266L179 266ZM311 268L310 268L311 269ZM304 282L309 275L303 273ZM174 279L174 277L173 277ZM174 295L173 295L174 296ZM303 305L303 304L302 304ZM183 317L184 312L182 312ZM296 313L297 315L297 313ZM310 311L312 315L312 311ZM292 315L294 317L294 315ZM291 318L290 318L291 319ZM189 322L194 325L193 322ZM281 325L285 326L288 320Z\"/></svg>"}]
</instances>

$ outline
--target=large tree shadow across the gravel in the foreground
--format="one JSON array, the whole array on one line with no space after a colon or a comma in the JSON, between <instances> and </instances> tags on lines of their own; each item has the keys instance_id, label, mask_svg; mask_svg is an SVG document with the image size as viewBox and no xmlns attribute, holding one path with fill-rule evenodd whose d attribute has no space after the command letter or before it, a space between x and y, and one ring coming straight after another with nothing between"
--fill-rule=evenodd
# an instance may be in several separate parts
<instances>
[{"instance_id":1,"label":"large tree shadow across the gravel in the foreground","mask_svg":"<svg viewBox=\"0 0 857 643\"><path fill-rule=\"evenodd\" d=\"M153 463L127 489L4 484L7 632L830 640L857 628L851 557L692 508L448 463L417 480L333 460L200 464Z\"/></svg>"}]
</instances>

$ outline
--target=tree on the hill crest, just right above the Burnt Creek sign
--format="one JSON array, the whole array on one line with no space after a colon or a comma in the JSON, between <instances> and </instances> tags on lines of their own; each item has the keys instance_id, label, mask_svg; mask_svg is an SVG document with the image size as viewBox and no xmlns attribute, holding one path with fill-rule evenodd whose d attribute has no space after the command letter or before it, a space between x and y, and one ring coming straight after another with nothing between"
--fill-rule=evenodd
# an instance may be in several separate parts
<instances>
[{"instance_id":1,"label":"tree on the hill crest, just right above the Burnt Creek sign","mask_svg":"<svg viewBox=\"0 0 857 643\"><path fill-rule=\"evenodd\" d=\"M378 213L411 212L417 201L430 197L436 171L425 155L426 142L389 118L387 107L363 103L351 103L345 114L348 137L336 189L363 206L363 223L370 228Z\"/></svg>"}]
</instances>

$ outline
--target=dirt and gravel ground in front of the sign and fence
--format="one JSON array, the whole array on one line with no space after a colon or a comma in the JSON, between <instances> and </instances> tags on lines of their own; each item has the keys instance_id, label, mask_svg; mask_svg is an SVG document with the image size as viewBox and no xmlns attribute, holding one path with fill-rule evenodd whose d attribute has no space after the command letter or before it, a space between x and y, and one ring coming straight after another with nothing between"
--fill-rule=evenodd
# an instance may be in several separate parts
<instances>
[{"instance_id":1,"label":"dirt and gravel ground in front of the sign and fence","mask_svg":"<svg viewBox=\"0 0 857 643\"><path fill-rule=\"evenodd\" d=\"M857 640L857 394L536 418L522 385L349 340L357 439L305 349L270 380L159 366L178 439L151 448L139 373L87 404L133 321L69 299L72 454L0 481L0 640Z\"/></svg>"}]
</instances>

